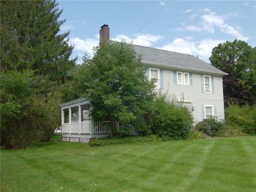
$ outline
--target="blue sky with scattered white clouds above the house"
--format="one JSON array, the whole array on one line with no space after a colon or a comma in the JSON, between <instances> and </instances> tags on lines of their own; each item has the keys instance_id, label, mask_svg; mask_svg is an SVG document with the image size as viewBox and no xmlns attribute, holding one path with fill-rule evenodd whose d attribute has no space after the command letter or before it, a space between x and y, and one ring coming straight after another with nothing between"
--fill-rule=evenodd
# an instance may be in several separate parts
<instances>
[{"instance_id":1,"label":"blue sky with scattered white clouds above the house","mask_svg":"<svg viewBox=\"0 0 256 192\"><path fill-rule=\"evenodd\" d=\"M70 30L70 59L93 56L100 27L109 25L112 40L198 56L210 63L212 49L234 39L256 46L256 1L229 0L58 0Z\"/></svg>"}]
</instances>

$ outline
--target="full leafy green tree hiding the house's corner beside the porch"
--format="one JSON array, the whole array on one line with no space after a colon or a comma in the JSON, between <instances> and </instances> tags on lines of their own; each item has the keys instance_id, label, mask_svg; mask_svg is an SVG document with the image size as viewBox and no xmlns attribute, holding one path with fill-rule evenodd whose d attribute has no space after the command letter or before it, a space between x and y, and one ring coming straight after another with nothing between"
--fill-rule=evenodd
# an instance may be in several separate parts
<instances>
[{"instance_id":1,"label":"full leafy green tree hiding the house's corner beside the porch","mask_svg":"<svg viewBox=\"0 0 256 192\"><path fill-rule=\"evenodd\" d=\"M144 115L154 98L154 82L145 76L141 57L125 42L104 42L94 48L94 57L83 57L76 78L77 90L90 100L95 122L110 121L112 136L116 123L130 132L131 126L145 128Z\"/></svg>"}]
</instances>

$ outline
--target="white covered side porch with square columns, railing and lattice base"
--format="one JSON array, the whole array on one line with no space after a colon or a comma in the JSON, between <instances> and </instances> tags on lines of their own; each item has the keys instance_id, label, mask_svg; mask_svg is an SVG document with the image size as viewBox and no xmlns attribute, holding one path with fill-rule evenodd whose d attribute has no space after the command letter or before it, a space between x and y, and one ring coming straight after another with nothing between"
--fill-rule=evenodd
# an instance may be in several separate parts
<instances>
[{"instance_id":1,"label":"white covered side porch with square columns, railing and lattice base","mask_svg":"<svg viewBox=\"0 0 256 192\"><path fill-rule=\"evenodd\" d=\"M110 136L109 122L93 122L89 118L90 105L85 98L62 103L60 107L63 141L87 143Z\"/></svg>"}]
</instances>

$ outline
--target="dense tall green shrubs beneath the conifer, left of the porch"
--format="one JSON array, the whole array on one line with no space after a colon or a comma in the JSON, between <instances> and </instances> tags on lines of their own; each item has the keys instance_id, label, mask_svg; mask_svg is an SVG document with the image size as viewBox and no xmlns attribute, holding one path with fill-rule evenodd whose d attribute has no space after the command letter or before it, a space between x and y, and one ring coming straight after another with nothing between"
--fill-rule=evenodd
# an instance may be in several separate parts
<instances>
[{"instance_id":1,"label":"dense tall green shrubs beneath the conifer, left of the porch","mask_svg":"<svg viewBox=\"0 0 256 192\"><path fill-rule=\"evenodd\" d=\"M25 148L36 138L49 141L60 125L59 97L35 95L32 83L31 72L2 74L1 145L6 148Z\"/></svg>"}]
</instances>

